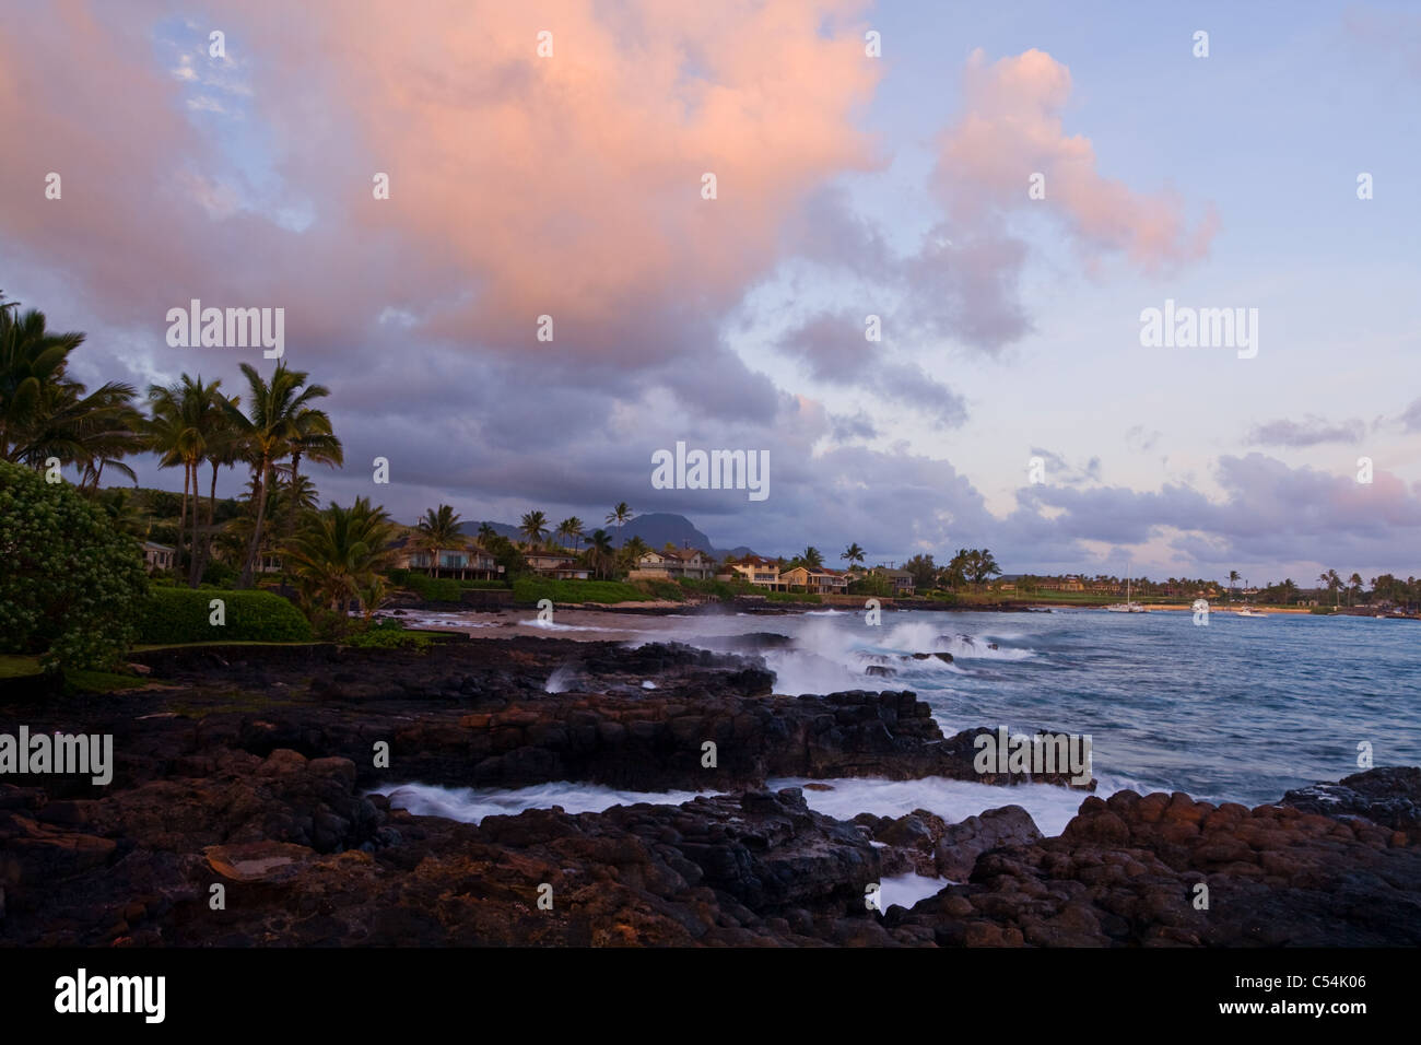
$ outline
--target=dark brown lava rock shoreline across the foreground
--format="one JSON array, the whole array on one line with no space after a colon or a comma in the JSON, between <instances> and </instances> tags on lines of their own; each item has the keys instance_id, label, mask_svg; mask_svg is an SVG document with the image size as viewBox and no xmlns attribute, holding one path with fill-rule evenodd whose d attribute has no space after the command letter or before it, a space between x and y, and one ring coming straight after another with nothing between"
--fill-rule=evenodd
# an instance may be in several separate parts
<instances>
[{"instance_id":1,"label":"dark brown lava rock shoreline across the foreground","mask_svg":"<svg viewBox=\"0 0 1421 1045\"><path fill-rule=\"evenodd\" d=\"M978 729L944 736L911 692L774 695L753 645L193 647L141 655L145 690L6 695L0 732L112 734L117 765L108 786L0 782L0 944L1421 943L1421 769L1255 809L1091 783L1043 837L1020 776L973 771ZM838 820L766 789L853 776L998 783L1002 802ZM411 781L708 793L473 825L375 793ZM874 910L902 874L942 887Z\"/></svg>"}]
</instances>

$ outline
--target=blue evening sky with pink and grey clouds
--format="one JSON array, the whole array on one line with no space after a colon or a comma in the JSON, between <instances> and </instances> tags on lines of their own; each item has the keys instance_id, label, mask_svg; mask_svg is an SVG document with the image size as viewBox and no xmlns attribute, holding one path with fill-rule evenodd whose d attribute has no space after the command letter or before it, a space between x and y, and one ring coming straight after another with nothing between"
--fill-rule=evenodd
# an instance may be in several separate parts
<instances>
[{"instance_id":1,"label":"blue evening sky with pink and grey clouds","mask_svg":"<svg viewBox=\"0 0 1421 1045\"><path fill-rule=\"evenodd\" d=\"M1415 4L6 9L0 289L139 390L276 367L171 347L169 309L284 309L325 500L1421 572ZM1145 344L1167 301L1253 347ZM678 442L767 454L767 496L657 488Z\"/></svg>"}]
</instances>

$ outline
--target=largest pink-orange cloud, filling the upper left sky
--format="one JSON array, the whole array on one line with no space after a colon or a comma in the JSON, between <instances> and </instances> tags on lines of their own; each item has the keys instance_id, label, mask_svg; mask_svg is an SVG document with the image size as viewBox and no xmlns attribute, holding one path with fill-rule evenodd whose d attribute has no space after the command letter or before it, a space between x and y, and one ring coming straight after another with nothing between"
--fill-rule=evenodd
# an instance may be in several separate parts
<instances>
[{"instance_id":1,"label":"largest pink-orange cloud, filling the upper left sky","mask_svg":"<svg viewBox=\"0 0 1421 1045\"><path fill-rule=\"evenodd\" d=\"M314 209L291 232L223 189L234 172L202 129L210 117L186 111L190 88L155 54L165 6L37 6L0 37L0 125L28 156L0 171L0 235L21 257L63 256L65 280L115 318L227 294L340 340L394 304L426 338L671 360L684 348L648 337L649 317L669 331L728 307L807 193L871 166L853 117L881 65L863 53L861 9L431 0L414 17L351 0L195 14L223 26L250 75L277 195ZM63 202L43 199L51 169ZM389 200L372 199L377 171ZM556 348L533 340L544 313Z\"/></svg>"}]
</instances>

